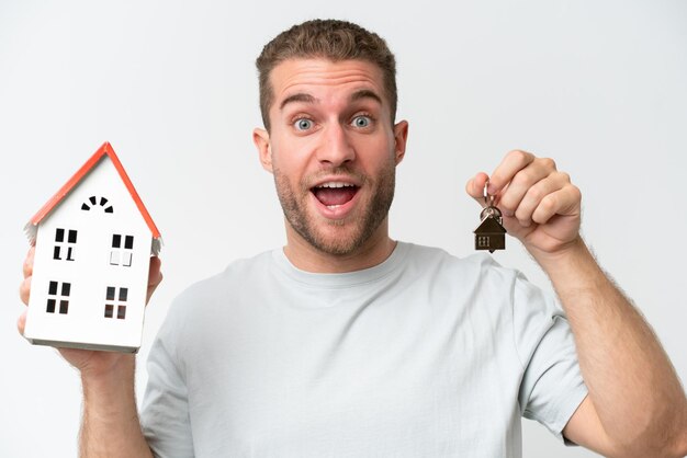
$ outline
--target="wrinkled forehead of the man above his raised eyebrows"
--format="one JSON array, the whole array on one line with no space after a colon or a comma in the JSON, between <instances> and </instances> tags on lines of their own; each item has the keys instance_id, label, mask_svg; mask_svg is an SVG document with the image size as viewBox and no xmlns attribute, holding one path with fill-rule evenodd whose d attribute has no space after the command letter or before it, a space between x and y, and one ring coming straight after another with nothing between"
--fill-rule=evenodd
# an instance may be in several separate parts
<instances>
[{"instance_id":1,"label":"wrinkled forehead of the man above his raised eyebrows","mask_svg":"<svg viewBox=\"0 0 687 458\"><path fill-rule=\"evenodd\" d=\"M384 94L382 70L367 60L292 58L274 67L270 83L278 107L289 101L314 103L318 94L331 92L347 99L371 98L379 102Z\"/></svg>"}]
</instances>

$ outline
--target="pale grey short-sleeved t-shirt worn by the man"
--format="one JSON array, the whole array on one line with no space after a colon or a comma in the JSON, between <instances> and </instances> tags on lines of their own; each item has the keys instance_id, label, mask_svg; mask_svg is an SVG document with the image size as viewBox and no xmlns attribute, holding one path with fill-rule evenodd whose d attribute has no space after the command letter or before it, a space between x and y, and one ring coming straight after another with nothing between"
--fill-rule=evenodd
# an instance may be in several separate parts
<instances>
[{"instance_id":1,"label":"pale grey short-sleeved t-shirt worn by the man","mask_svg":"<svg viewBox=\"0 0 687 458\"><path fill-rule=\"evenodd\" d=\"M274 250L172 305L142 423L161 457L520 457L587 393L553 298L489 255L399 242L346 274Z\"/></svg>"}]
</instances>

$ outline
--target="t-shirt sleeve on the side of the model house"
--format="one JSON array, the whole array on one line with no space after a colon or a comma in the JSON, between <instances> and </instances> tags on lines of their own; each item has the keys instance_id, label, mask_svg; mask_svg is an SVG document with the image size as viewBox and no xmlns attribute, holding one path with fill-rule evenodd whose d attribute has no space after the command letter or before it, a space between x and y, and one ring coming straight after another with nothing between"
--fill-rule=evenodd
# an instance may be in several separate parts
<instances>
[{"instance_id":1,"label":"t-shirt sleeve on the side of the model house","mask_svg":"<svg viewBox=\"0 0 687 458\"><path fill-rule=\"evenodd\" d=\"M193 457L187 386L170 350L169 316L148 356L148 385L140 412L143 433L156 457Z\"/></svg>"}]
</instances>

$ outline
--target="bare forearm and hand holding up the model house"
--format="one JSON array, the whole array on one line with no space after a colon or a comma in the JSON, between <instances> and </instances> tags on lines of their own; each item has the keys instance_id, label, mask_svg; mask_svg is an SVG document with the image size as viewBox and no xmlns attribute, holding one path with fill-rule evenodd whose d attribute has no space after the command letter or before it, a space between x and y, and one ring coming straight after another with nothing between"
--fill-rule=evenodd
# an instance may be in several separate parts
<instances>
[{"instance_id":1,"label":"bare forearm and hand holding up the model house","mask_svg":"<svg viewBox=\"0 0 687 458\"><path fill-rule=\"evenodd\" d=\"M29 304L33 274L32 248L24 261L20 297ZM161 282L160 261L150 260L149 299ZM19 319L24 332L26 312ZM69 364L81 374L83 416L79 437L81 457L153 457L140 431L134 390L135 356L113 352L59 348Z\"/></svg>"}]
</instances>

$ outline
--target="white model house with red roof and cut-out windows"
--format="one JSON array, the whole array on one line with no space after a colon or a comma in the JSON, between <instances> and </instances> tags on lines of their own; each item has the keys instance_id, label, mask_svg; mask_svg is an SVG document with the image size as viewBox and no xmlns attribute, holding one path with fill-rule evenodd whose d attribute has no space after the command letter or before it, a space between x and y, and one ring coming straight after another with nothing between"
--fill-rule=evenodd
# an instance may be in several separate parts
<instances>
[{"instance_id":1,"label":"white model house with red roof and cut-out windows","mask_svg":"<svg viewBox=\"0 0 687 458\"><path fill-rule=\"evenodd\" d=\"M160 232L109 142L26 225L35 243L24 336L135 353Z\"/></svg>"}]
</instances>

